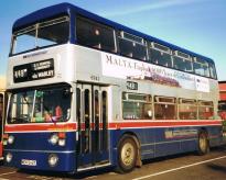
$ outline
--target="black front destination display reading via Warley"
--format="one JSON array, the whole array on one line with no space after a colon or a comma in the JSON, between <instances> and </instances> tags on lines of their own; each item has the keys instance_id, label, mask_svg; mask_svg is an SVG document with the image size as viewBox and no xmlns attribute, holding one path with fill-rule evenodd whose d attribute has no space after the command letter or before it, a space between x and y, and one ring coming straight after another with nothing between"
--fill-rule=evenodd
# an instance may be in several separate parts
<instances>
[{"instance_id":1,"label":"black front destination display reading via Warley","mask_svg":"<svg viewBox=\"0 0 226 180\"><path fill-rule=\"evenodd\" d=\"M13 67L14 82L25 82L54 77L54 60L46 59Z\"/></svg>"}]
</instances>

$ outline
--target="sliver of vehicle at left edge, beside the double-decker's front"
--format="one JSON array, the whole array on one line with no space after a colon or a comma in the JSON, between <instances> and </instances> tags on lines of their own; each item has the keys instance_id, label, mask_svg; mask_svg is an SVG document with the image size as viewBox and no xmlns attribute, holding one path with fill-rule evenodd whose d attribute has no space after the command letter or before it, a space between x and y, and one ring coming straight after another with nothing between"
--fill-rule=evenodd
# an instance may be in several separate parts
<instances>
[{"instance_id":1,"label":"sliver of vehicle at left edge, beside the double-decker's front","mask_svg":"<svg viewBox=\"0 0 226 180\"><path fill-rule=\"evenodd\" d=\"M6 112L6 78L0 77L0 160L3 159L3 126L4 126L4 112Z\"/></svg>"}]
</instances>

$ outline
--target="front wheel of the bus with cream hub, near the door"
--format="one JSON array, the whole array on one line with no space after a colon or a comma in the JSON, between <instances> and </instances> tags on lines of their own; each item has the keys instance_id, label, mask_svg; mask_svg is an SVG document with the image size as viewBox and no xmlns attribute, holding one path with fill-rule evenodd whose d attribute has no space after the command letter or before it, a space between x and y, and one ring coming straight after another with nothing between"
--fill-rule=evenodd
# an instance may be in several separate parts
<instances>
[{"instance_id":1,"label":"front wheel of the bus with cream hub, near the door","mask_svg":"<svg viewBox=\"0 0 226 180\"><path fill-rule=\"evenodd\" d=\"M118 171L121 173L132 171L136 167L137 156L138 149L134 139L126 135L119 143Z\"/></svg>"}]
</instances>

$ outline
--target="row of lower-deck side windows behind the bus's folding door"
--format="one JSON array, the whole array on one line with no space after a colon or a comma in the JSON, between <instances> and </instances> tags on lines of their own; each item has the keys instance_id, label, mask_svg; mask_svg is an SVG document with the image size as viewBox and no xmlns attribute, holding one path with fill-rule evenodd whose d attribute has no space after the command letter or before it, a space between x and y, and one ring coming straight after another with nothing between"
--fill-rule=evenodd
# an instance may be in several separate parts
<instances>
[{"instance_id":1,"label":"row of lower-deck side windows behind the bus's folding door","mask_svg":"<svg viewBox=\"0 0 226 180\"><path fill-rule=\"evenodd\" d=\"M123 120L209 120L214 102L171 97L122 93Z\"/></svg>"}]
</instances>

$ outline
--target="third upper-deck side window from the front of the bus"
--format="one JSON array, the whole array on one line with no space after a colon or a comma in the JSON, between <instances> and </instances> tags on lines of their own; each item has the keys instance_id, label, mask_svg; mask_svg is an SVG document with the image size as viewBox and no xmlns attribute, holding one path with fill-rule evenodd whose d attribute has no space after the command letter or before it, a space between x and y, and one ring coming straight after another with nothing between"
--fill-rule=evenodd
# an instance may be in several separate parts
<instances>
[{"instance_id":1,"label":"third upper-deck side window from the front of the bus","mask_svg":"<svg viewBox=\"0 0 226 180\"><path fill-rule=\"evenodd\" d=\"M149 57L153 64L172 67L171 50L166 46L158 43L151 43Z\"/></svg>"}]
</instances>

